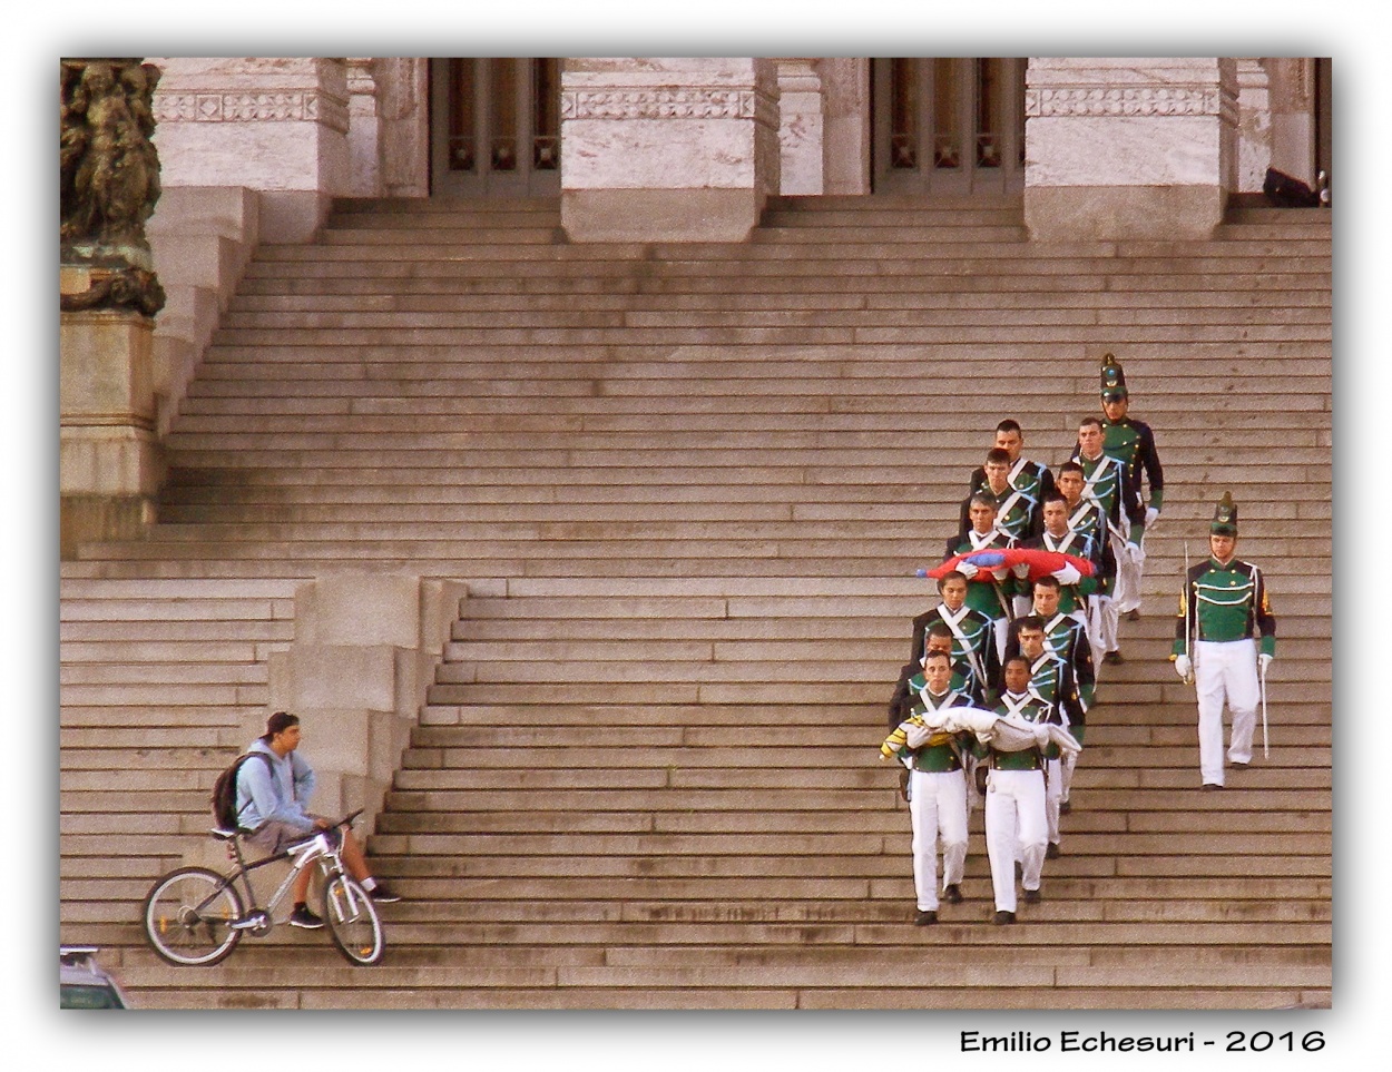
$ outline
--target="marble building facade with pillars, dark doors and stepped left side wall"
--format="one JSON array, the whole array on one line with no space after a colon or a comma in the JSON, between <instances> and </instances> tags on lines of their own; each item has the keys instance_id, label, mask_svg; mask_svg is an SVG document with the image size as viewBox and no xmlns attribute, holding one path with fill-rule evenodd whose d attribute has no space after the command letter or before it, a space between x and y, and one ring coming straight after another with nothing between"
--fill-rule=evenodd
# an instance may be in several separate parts
<instances>
[{"instance_id":1,"label":"marble building facade with pillars, dark doors and stepped left side wall","mask_svg":"<svg viewBox=\"0 0 1392 1072\"><path fill-rule=\"evenodd\" d=\"M117 429L136 475L102 476L131 444L106 425L79 441L64 409L64 496L117 494L132 518L258 242L310 241L334 198L541 194L572 242L681 242L745 239L771 196L909 194L1013 199L1037 241L1171 239L1207 237L1268 167L1313 184L1329 159L1314 58L145 63L167 301L125 347L138 375L117 369L141 395Z\"/></svg>"}]
</instances>

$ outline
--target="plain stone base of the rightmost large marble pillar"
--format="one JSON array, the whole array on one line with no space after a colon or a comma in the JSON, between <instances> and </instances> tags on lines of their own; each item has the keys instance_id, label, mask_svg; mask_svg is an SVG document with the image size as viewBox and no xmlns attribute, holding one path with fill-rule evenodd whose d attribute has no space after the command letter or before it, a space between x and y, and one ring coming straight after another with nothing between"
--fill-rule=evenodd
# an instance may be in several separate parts
<instances>
[{"instance_id":1,"label":"plain stone base of the rightmost large marble pillar","mask_svg":"<svg viewBox=\"0 0 1392 1072\"><path fill-rule=\"evenodd\" d=\"M1221 187L1026 187L1025 224L1040 242L1193 241L1225 206Z\"/></svg>"}]
</instances>

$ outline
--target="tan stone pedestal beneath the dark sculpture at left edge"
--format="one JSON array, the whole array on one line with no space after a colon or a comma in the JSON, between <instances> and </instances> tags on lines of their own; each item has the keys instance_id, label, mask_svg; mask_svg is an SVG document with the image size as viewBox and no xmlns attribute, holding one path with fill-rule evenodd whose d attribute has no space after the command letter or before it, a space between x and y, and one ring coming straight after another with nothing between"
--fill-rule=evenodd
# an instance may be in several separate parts
<instances>
[{"instance_id":1,"label":"tan stone pedestal beneath the dark sculpture at left edge","mask_svg":"<svg viewBox=\"0 0 1392 1072\"><path fill-rule=\"evenodd\" d=\"M60 273L63 294L103 283L100 269ZM163 458L155 436L150 317L121 309L64 312L58 329L60 553L82 540L131 539L155 519Z\"/></svg>"}]
</instances>

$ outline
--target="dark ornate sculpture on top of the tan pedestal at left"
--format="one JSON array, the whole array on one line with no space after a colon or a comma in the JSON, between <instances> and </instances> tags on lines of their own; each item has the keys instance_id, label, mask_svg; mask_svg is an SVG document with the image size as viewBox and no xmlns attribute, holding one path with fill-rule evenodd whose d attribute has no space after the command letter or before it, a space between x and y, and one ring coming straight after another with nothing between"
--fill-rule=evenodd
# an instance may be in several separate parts
<instances>
[{"instance_id":1,"label":"dark ornate sculpture on top of the tan pedestal at left","mask_svg":"<svg viewBox=\"0 0 1392 1072\"><path fill-rule=\"evenodd\" d=\"M164 305L145 221L160 196L152 97L160 71L132 58L63 60L58 159L64 265L92 269L93 287L63 309Z\"/></svg>"}]
</instances>

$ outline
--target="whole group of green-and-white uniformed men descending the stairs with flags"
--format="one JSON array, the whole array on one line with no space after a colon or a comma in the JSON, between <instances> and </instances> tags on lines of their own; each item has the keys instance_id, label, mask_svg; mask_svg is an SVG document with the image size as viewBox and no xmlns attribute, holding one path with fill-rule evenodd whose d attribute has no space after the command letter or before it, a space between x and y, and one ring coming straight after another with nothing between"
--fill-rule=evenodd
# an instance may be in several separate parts
<instances>
[{"instance_id":1,"label":"whole group of green-and-white uniformed men descending the stairs with flags","mask_svg":"<svg viewBox=\"0 0 1392 1072\"><path fill-rule=\"evenodd\" d=\"M1098 674L1123 661L1118 622L1140 617L1146 536L1164 505L1155 437L1129 416L1126 377L1111 354L1101 408L1080 422L1057 472L1022 457L1020 425L1002 420L970 476L944 562L920 571L937 581L941 599L913 620L909 663L889 702L892 732L880 748L905 767L919 926L937 922L940 898L962 901L977 806L995 923L1016 920L1016 885L1026 904L1041 899L1044 863L1062 853L1061 817L1072 807ZM1225 494L1210 555L1186 568L1171 654L1199 688L1204 789L1224 785L1225 704L1228 760L1251 762L1275 653L1265 581L1235 557L1236 540L1237 511Z\"/></svg>"}]
</instances>

